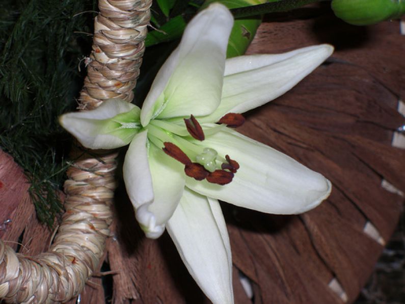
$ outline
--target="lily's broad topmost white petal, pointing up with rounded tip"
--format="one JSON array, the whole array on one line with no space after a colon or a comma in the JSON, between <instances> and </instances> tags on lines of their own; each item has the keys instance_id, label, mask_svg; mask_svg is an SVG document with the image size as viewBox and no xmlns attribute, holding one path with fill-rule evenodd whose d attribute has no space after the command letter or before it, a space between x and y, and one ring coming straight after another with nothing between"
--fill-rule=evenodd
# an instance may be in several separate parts
<instances>
[{"instance_id":1,"label":"lily's broad topmost white petal, pointing up with rounded tip","mask_svg":"<svg viewBox=\"0 0 405 304\"><path fill-rule=\"evenodd\" d=\"M232 24L232 15L220 4L193 18L156 75L142 107L142 125L156 116L208 115L218 107Z\"/></svg>"}]
</instances>

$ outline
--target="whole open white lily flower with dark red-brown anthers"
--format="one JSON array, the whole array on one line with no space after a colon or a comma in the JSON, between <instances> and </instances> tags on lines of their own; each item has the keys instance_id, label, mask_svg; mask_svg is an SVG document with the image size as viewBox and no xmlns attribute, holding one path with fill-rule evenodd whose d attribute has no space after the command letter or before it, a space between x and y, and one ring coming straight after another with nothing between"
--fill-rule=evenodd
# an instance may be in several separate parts
<instances>
[{"instance_id":1,"label":"whole open white lily flower with dark red-brown anthers","mask_svg":"<svg viewBox=\"0 0 405 304\"><path fill-rule=\"evenodd\" d=\"M197 284L221 304L233 303L233 291L218 199L266 213L297 214L316 207L331 191L321 174L224 124L240 124L240 113L288 91L333 47L226 60L232 24L222 5L200 12L158 72L142 110L110 100L60 118L88 148L130 143L124 181L142 229L157 238L167 227Z\"/></svg>"}]
</instances>

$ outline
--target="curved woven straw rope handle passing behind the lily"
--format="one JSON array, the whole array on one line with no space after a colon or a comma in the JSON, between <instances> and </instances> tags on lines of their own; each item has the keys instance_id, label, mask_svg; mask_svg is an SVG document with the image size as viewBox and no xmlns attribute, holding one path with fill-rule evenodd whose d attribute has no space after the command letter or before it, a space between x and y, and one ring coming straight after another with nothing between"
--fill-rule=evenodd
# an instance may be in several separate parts
<instances>
[{"instance_id":1,"label":"curved woven straw rope handle passing behind the lily","mask_svg":"<svg viewBox=\"0 0 405 304\"><path fill-rule=\"evenodd\" d=\"M108 98L131 102L144 52L151 0L99 0L93 51L82 92L82 110ZM89 62L90 61L90 62ZM11 303L65 302L77 296L98 269L110 235L115 153L81 156L68 169L65 209L49 251L16 254L0 240L0 299Z\"/></svg>"}]
</instances>

